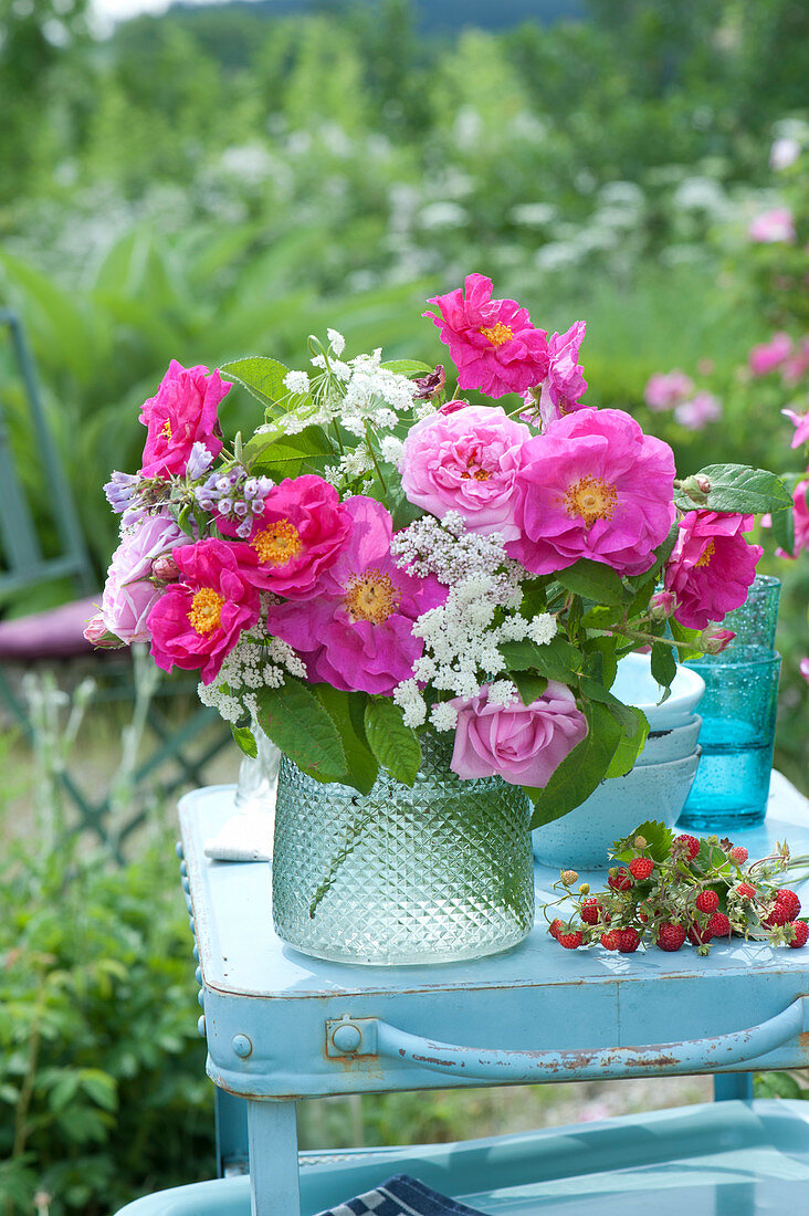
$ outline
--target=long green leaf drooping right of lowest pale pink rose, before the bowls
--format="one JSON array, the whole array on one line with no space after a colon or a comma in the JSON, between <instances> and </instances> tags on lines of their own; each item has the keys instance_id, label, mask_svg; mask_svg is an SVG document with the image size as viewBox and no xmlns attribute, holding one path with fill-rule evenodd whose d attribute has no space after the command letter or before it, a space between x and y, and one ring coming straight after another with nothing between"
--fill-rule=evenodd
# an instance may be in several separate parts
<instances>
[{"instance_id":1,"label":"long green leaf drooping right of lowest pale pink rose, before the bowls","mask_svg":"<svg viewBox=\"0 0 809 1216\"><path fill-rule=\"evenodd\" d=\"M617 720L597 702L585 702L583 708L588 719L585 738L562 760L543 789L523 787L534 804L532 828L551 823L585 801L603 781L616 754L622 737Z\"/></svg>"}]
</instances>

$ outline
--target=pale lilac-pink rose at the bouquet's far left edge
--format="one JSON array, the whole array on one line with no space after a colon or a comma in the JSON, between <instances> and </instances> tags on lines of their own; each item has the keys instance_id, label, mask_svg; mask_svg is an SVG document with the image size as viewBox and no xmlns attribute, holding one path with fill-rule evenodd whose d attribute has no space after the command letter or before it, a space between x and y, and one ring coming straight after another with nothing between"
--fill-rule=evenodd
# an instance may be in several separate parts
<instances>
[{"instance_id":1,"label":"pale lilac-pink rose at the bouquet's far left edge","mask_svg":"<svg viewBox=\"0 0 809 1216\"><path fill-rule=\"evenodd\" d=\"M163 595L163 589L152 581L155 562L170 553L175 545L189 541L190 537L165 516L144 516L124 530L112 556L101 598L103 624L122 642L148 641L146 621Z\"/></svg>"}]
</instances>

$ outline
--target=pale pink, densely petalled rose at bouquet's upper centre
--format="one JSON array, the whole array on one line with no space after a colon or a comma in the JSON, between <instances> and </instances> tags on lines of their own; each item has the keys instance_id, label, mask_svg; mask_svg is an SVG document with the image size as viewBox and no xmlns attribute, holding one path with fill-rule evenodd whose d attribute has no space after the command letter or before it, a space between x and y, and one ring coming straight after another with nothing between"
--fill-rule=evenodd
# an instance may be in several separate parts
<instances>
[{"instance_id":1,"label":"pale pink, densely petalled rose at bouquet's upper centre","mask_svg":"<svg viewBox=\"0 0 809 1216\"><path fill-rule=\"evenodd\" d=\"M433 413L408 434L399 461L410 502L443 518L459 511L472 533L513 540L513 500L519 454L532 433L505 410L467 405Z\"/></svg>"}]
</instances>

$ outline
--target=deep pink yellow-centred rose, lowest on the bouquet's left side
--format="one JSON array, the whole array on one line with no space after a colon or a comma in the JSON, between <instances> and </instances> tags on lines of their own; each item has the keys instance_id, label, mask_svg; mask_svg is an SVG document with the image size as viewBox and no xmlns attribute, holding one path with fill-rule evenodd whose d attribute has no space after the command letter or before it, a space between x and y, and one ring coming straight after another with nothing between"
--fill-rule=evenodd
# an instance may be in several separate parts
<instances>
[{"instance_id":1,"label":"deep pink yellow-centred rose, lowest on the bouquet's left side","mask_svg":"<svg viewBox=\"0 0 809 1216\"><path fill-rule=\"evenodd\" d=\"M164 671L198 668L210 683L241 631L258 620L259 593L234 548L210 539L174 550L181 581L169 584L147 621L152 658Z\"/></svg>"}]
</instances>

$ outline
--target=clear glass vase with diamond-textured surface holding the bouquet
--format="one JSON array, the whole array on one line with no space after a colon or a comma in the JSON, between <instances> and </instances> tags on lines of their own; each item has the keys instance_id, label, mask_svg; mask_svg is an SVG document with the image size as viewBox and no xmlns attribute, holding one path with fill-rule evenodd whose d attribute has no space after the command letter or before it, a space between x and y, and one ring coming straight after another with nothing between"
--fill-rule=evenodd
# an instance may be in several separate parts
<instances>
[{"instance_id":1,"label":"clear glass vase with diamond-textured surface holding the bouquet","mask_svg":"<svg viewBox=\"0 0 809 1216\"><path fill-rule=\"evenodd\" d=\"M461 781L451 751L451 734L426 734L414 787L380 771L365 796L281 760L273 916L283 941L387 964L477 958L526 936L528 799L500 777Z\"/></svg>"}]
</instances>

